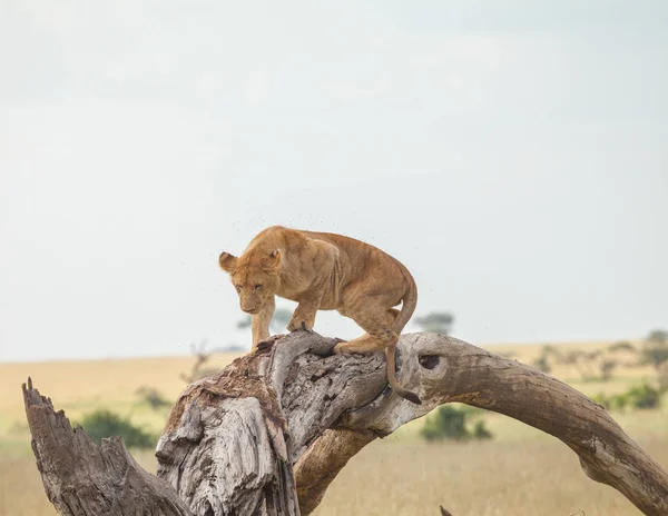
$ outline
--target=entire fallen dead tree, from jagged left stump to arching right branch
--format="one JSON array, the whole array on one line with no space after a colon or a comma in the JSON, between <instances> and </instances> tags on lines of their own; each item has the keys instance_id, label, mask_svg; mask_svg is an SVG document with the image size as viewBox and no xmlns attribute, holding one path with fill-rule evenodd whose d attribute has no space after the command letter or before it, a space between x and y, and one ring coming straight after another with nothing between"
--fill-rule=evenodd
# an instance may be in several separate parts
<instances>
[{"instance_id":1,"label":"entire fallen dead tree, from jagged left stump to arching right branch","mask_svg":"<svg viewBox=\"0 0 668 516\"><path fill-rule=\"evenodd\" d=\"M591 478L646 515L668 514L666 472L602 407L566 384L454 338L411 334L397 346L397 368L400 381L423 401L413 405L387 387L383 354L332 355L335 344L305 331L274 337L255 355L191 384L158 443L159 479L125 450L106 459L110 448L121 448L118 440L96 447L53 414L50 401L24 389L49 498L68 515L307 515L375 437L440 404L461 401L558 437ZM72 446L78 440L84 444ZM91 477L98 482L87 483ZM121 488L110 495L106 485ZM168 508L144 510L159 503Z\"/></svg>"}]
</instances>

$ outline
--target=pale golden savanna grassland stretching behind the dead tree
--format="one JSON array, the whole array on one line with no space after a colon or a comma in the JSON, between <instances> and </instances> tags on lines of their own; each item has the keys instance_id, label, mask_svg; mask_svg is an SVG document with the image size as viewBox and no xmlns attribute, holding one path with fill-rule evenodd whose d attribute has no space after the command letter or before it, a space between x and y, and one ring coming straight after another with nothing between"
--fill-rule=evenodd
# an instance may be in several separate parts
<instances>
[{"instance_id":1,"label":"pale golden savanna grassland stretching behind the dead tree","mask_svg":"<svg viewBox=\"0 0 668 516\"><path fill-rule=\"evenodd\" d=\"M592 350L609 343L574 343L560 350ZM539 345L488 346L531 364ZM216 355L207 367L224 367L236 355ZM623 357L622 357L623 361ZM629 357L630 361L630 357ZM191 357L0 364L0 515L43 516L48 502L30 450L21 384L31 376L70 420L109 408L159 434L168 408L154 410L136 394L156 388L173 403L186 383ZM651 378L650 367L619 367L608 381L583 381L573 366L551 374L589 396L619 394ZM656 410L625 409L612 416L662 466L668 468L668 399ZM484 416L494 438L465 444L428 444L420 437L424 419L404 425L353 457L333 482L317 516L438 515L442 505L455 516L475 515L638 515L623 496L581 472L577 456L557 439L492 413ZM155 472L153 453L135 452Z\"/></svg>"}]
</instances>

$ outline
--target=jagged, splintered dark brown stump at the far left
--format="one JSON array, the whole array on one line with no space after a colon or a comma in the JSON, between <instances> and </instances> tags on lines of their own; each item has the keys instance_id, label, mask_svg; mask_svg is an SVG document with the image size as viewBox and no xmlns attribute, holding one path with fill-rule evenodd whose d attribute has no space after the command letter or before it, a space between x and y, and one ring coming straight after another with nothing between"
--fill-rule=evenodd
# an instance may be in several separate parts
<instances>
[{"instance_id":1,"label":"jagged, splintered dark brown stump at the far left","mask_svg":"<svg viewBox=\"0 0 668 516\"><path fill-rule=\"evenodd\" d=\"M45 490L67 516L186 516L187 505L165 480L146 473L119 437L96 445L70 426L49 398L23 384L26 416Z\"/></svg>"}]
</instances>

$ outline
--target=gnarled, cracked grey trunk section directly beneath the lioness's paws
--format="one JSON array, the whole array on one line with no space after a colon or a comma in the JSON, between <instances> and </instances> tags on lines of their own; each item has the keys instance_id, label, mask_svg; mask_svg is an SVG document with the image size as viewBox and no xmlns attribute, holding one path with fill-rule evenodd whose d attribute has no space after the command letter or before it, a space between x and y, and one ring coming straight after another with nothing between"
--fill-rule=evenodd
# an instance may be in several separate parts
<instances>
[{"instance_id":1,"label":"gnarled, cracked grey trunk section directly beneath the lioness's paws","mask_svg":"<svg viewBox=\"0 0 668 516\"><path fill-rule=\"evenodd\" d=\"M306 331L274 337L189 386L158 443L158 476L196 514L299 514L293 465L343 411L386 386L382 354L350 360L332 355L336 343ZM308 514L317 504L302 505Z\"/></svg>"}]
</instances>

